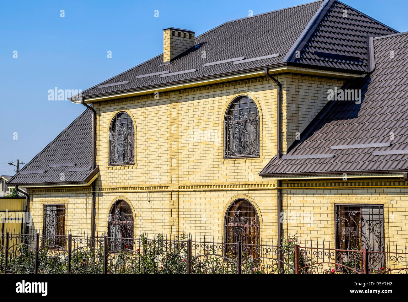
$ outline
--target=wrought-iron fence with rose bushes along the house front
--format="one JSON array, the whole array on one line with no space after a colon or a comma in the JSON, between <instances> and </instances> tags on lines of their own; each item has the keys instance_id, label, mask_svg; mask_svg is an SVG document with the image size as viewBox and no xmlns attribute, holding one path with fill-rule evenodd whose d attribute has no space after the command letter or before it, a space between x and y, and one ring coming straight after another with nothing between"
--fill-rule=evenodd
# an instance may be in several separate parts
<instances>
[{"instance_id":1,"label":"wrought-iron fence with rose bushes along the house front","mask_svg":"<svg viewBox=\"0 0 408 302\"><path fill-rule=\"evenodd\" d=\"M407 273L407 252L228 243L191 236L0 233L0 273Z\"/></svg>"}]
</instances>

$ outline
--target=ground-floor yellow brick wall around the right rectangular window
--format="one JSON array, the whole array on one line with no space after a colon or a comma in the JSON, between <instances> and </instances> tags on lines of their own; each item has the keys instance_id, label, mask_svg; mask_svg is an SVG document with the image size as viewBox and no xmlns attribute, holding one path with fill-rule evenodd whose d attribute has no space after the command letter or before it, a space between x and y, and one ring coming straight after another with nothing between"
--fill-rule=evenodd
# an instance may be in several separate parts
<instances>
[{"instance_id":1,"label":"ground-floor yellow brick wall around the right rectangular window","mask_svg":"<svg viewBox=\"0 0 408 302\"><path fill-rule=\"evenodd\" d=\"M405 188L386 188L387 183ZM299 187L283 190L282 211L294 218L283 224L285 235L297 233L301 242L325 242L325 246L335 248L335 204L381 204L384 205L384 237L387 248L401 249L408 243L408 187L404 181L368 179L341 184L339 181L327 183L316 180L313 184L326 186L326 189ZM338 187L339 185L348 188ZM295 217L299 217L296 215L300 213L307 215L308 220L296 219Z\"/></svg>"}]
</instances>

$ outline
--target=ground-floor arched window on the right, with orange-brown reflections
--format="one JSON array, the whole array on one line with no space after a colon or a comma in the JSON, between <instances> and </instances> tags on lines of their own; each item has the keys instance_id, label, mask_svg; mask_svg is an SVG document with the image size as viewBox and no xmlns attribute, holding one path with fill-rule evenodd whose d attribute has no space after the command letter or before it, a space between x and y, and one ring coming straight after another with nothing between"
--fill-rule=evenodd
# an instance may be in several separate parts
<instances>
[{"instance_id":1,"label":"ground-floor arched window on the right, with orange-brown reflections","mask_svg":"<svg viewBox=\"0 0 408 302\"><path fill-rule=\"evenodd\" d=\"M259 229L258 214L251 202L237 199L231 203L225 213L225 242L259 244Z\"/></svg>"}]
</instances>

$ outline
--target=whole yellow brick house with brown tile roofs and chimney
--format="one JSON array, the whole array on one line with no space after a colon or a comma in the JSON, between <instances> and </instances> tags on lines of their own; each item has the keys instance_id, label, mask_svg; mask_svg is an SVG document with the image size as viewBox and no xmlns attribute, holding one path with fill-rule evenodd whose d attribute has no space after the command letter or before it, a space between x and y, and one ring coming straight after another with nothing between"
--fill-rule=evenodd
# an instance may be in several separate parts
<instances>
[{"instance_id":1,"label":"whole yellow brick house with brown tile roofs and chimney","mask_svg":"<svg viewBox=\"0 0 408 302\"><path fill-rule=\"evenodd\" d=\"M163 43L10 180L31 232L407 243L408 33L330 0Z\"/></svg>"}]
</instances>

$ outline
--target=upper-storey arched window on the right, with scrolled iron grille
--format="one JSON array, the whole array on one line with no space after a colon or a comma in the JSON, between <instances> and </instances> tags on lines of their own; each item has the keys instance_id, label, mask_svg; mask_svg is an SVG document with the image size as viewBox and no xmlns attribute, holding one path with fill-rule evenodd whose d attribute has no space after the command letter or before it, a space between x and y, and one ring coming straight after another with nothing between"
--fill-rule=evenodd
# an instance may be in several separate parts
<instances>
[{"instance_id":1,"label":"upper-storey arched window on the right, with scrolled iron grille","mask_svg":"<svg viewBox=\"0 0 408 302\"><path fill-rule=\"evenodd\" d=\"M246 95L229 104L224 118L224 158L259 156L259 112Z\"/></svg>"}]
</instances>

